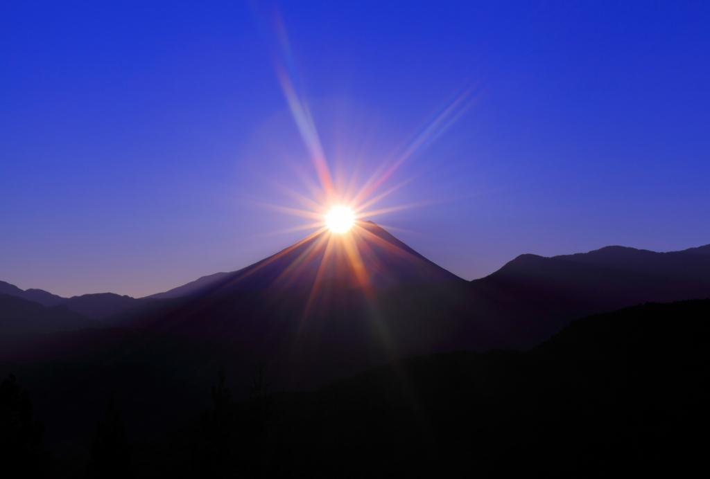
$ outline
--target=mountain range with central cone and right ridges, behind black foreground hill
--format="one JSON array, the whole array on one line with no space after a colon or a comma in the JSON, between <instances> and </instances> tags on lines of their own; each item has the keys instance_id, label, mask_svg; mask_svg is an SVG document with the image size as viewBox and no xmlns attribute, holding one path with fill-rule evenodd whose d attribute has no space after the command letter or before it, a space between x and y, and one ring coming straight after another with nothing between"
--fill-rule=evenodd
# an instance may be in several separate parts
<instances>
[{"instance_id":1,"label":"mountain range with central cone and right ridges, behind black foreground hill","mask_svg":"<svg viewBox=\"0 0 710 479\"><path fill-rule=\"evenodd\" d=\"M464 281L378 225L359 222L349 235L311 235L239 271L148 298L61 298L8 283L0 283L0 293L46 307L23 319L17 305L0 302L3 332L109 326L214 341L244 373L260 364L300 387L408 354L528 349L577 317L709 298L710 245L669 253L606 247L550 258L523 254L485 278ZM41 321L33 319L38 311Z\"/></svg>"}]
</instances>

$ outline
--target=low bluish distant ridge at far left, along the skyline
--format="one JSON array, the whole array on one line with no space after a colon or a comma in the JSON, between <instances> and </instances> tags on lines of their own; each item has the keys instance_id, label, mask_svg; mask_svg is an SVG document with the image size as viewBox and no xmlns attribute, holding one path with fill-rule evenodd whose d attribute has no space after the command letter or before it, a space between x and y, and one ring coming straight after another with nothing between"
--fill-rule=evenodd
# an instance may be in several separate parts
<instances>
[{"instance_id":1,"label":"low bluish distant ridge at far left, along the skyline","mask_svg":"<svg viewBox=\"0 0 710 479\"><path fill-rule=\"evenodd\" d=\"M139 308L149 301L115 293L92 293L62 298L62 296L41 289L22 290L5 281L0 281L0 294L33 301L43 306L65 305L68 310L96 320L109 320L119 315L125 315L126 312Z\"/></svg>"}]
</instances>

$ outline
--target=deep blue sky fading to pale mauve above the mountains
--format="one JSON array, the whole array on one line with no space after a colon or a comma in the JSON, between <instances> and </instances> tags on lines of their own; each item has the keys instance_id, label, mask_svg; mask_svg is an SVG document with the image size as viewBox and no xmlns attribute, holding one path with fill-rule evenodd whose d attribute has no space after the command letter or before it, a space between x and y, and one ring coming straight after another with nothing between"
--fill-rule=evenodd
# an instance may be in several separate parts
<instances>
[{"instance_id":1,"label":"deep blue sky fading to pale mauve above the mountains","mask_svg":"<svg viewBox=\"0 0 710 479\"><path fill-rule=\"evenodd\" d=\"M315 178L280 63L345 179L474 86L388 182L409 181L384 206L417 206L373 218L459 276L710 243L708 2L110 3L0 6L0 279L21 288L145 295L304 236L261 204Z\"/></svg>"}]
</instances>

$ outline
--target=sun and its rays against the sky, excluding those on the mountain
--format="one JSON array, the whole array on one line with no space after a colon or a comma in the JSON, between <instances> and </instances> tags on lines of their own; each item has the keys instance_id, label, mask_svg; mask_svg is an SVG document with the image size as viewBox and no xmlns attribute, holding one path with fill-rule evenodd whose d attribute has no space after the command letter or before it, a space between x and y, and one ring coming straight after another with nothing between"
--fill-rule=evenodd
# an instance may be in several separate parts
<instances>
[{"instance_id":1,"label":"sun and its rays against the sky, excluding those on the mountain","mask_svg":"<svg viewBox=\"0 0 710 479\"><path fill-rule=\"evenodd\" d=\"M392 228L391 225L381 223L381 218L377 217L428 203L427 200L419 200L416 203L393 205L391 196L408 184L411 178L400 179L394 184L392 180L398 176L400 173L398 170L405 162L425 149L456 123L461 115L464 115L473 104L476 85L468 86L444 103L442 108L430 120L423 123L412 137L382 157L376 169L368 176L361 178L355 175L354 171L340 171L340 175L334 175L334 171L331 171L332 161L327 157L327 150L321 143L321 135L299 81L301 75L295 69L298 62L293 58L293 49L290 47L288 33L280 16L274 18L273 26L275 38L278 40L277 55L275 55L276 75L305 146L307 155L303 159L310 160L304 164L310 163L312 167L311 171L298 171L298 176L303 180L302 186L305 186L307 193L280 185L282 192L299 204L266 205L273 210L308 220L286 231L316 230L315 235L331 232L332 235L327 236L334 241L342 239L348 242L353 237L364 234L361 231L363 230L361 221L377 220L378 225ZM358 169L359 164L356 161L358 160L349 159L347 164L355 164L354 169ZM308 169L311 169L310 167ZM390 205L383 204L386 202Z\"/></svg>"}]
</instances>

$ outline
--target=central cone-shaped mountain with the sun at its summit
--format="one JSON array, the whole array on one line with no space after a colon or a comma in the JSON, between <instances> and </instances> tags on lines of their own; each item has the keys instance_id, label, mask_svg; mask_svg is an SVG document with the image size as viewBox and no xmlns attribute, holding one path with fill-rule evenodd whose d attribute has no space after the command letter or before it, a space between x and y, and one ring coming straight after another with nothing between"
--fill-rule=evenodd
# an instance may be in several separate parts
<instances>
[{"instance_id":1,"label":"central cone-shaped mountain with the sun at its summit","mask_svg":"<svg viewBox=\"0 0 710 479\"><path fill-rule=\"evenodd\" d=\"M467 287L359 222L349 235L311 235L239 271L168 291L163 298L188 294L133 325L219 340L229 345L234 374L263 366L283 387L308 387L400 354L485 346L465 311Z\"/></svg>"}]
</instances>

